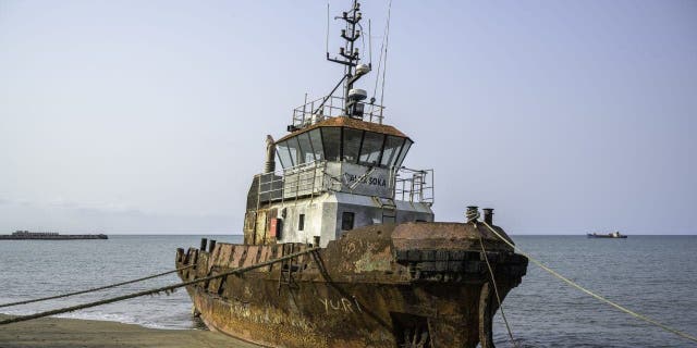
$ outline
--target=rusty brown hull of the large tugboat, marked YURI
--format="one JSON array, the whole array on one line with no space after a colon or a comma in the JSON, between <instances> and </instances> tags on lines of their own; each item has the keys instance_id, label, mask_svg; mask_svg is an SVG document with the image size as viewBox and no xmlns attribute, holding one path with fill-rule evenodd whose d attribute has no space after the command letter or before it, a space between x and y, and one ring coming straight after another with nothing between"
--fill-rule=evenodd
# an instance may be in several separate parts
<instances>
[{"instance_id":1,"label":"rusty brown hull of the large tugboat, marked YURI","mask_svg":"<svg viewBox=\"0 0 697 348\"><path fill-rule=\"evenodd\" d=\"M293 262L187 291L210 328L264 346L492 347L498 303L479 235L503 299L527 259L482 226L443 223L357 228ZM279 258L289 247L217 244L210 253L180 249L176 261L196 264L180 273L191 281Z\"/></svg>"}]
</instances>

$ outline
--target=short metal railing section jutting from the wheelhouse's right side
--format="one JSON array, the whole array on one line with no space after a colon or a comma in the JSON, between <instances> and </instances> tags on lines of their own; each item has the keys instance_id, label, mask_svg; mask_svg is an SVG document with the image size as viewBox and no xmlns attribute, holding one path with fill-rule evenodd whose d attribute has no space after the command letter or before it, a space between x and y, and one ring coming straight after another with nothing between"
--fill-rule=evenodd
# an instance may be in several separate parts
<instances>
[{"instance_id":1,"label":"short metal railing section jutting from the wheelhouse's right side","mask_svg":"<svg viewBox=\"0 0 697 348\"><path fill-rule=\"evenodd\" d=\"M433 170L412 170L402 166L394 181L394 199L432 206L436 199Z\"/></svg>"}]
</instances>

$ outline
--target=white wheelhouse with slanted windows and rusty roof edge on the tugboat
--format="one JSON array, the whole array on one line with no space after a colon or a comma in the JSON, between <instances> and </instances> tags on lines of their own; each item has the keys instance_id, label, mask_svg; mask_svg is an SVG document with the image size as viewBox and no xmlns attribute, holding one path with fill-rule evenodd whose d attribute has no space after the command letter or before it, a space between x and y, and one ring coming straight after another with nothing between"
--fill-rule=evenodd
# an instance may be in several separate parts
<instances>
[{"instance_id":1,"label":"white wheelhouse with slanted windows and rusty roof edge on the tugboat","mask_svg":"<svg viewBox=\"0 0 697 348\"><path fill-rule=\"evenodd\" d=\"M245 243L323 247L366 225L433 221L432 171L402 166L413 144L405 134L358 117L303 119L268 144L266 173L247 196Z\"/></svg>"}]
</instances>

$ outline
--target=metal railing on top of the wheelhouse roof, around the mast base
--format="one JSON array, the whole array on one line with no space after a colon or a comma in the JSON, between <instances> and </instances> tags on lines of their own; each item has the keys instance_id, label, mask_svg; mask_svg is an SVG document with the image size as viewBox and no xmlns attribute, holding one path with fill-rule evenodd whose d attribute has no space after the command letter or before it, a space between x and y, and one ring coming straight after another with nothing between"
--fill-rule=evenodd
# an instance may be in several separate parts
<instances>
[{"instance_id":1,"label":"metal railing on top of the wheelhouse roof, around the mast base","mask_svg":"<svg viewBox=\"0 0 697 348\"><path fill-rule=\"evenodd\" d=\"M327 99L327 100L325 100ZM382 124L384 107L363 103L363 121ZM293 126L304 128L328 117L345 116L344 98L328 96L306 102L293 110Z\"/></svg>"}]
</instances>

